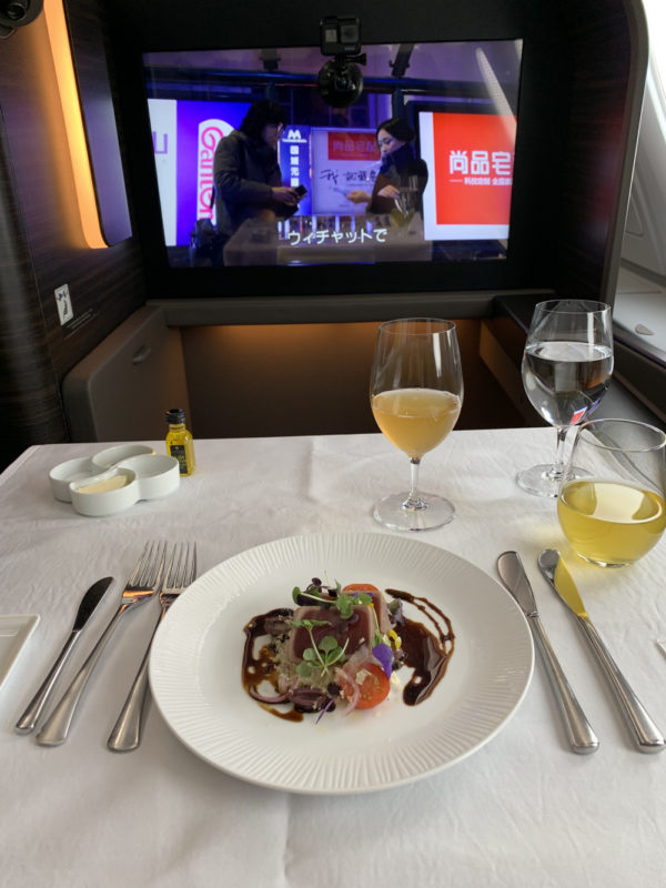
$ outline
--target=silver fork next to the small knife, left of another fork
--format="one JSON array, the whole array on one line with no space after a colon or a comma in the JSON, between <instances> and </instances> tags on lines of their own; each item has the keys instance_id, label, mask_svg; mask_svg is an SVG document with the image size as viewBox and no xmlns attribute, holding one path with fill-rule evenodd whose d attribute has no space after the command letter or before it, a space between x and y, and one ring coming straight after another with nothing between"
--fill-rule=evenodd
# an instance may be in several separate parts
<instances>
[{"instance_id":1,"label":"silver fork next to the small knife, left of another fork","mask_svg":"<svg viewBox=\"0 0 666 888\"><path fill-rule=\"evenodd\" d=\"M164 571L164 562L167 558L167 544L165 543L147 543L141 553L141 557L137 562L137 566L132 571L130 578L123 589L121 602L118 610L109 622L104 632L100 635L95 646L92 648L88 658L69 688L64 692L60 703L44 725L36 739L42 746L60 746L61 743L67 740L70 725L74 715L74 710L83 693L88 679L97 662L100 658L107 642L120 617L130 608L137 607L143 602L148 601L151 595L157 592L162 579Z\"/></svg>"}]
</instances>

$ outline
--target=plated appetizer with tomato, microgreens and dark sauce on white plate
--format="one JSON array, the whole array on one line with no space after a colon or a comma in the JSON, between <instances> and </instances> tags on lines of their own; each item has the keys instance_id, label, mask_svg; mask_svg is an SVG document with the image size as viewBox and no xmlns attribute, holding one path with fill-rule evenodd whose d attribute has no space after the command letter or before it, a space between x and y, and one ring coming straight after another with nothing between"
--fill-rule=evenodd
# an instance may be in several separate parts
<instances>
[{"instance_id":1,"label":"plated appetizer with tomato, microgreens and dark sauce on white plate","mask_svg":"<svg viewBox=\"0 0 666 888\"><path fill-rule=\"evenodd\" d=\"M243 685L274 715L321 718L341 704L346 714L371 709L392 687L414 706L446 672L455 636L448 618L426 598L382 593L369 583L330 586L314 577L304 589L294 587L292 601L294 607L260 614L244 627ZM430 628L405 616L405 603ZM402 672L396 675L403 669L411 670L404 680Z\"/></svg>"}]
</instances>

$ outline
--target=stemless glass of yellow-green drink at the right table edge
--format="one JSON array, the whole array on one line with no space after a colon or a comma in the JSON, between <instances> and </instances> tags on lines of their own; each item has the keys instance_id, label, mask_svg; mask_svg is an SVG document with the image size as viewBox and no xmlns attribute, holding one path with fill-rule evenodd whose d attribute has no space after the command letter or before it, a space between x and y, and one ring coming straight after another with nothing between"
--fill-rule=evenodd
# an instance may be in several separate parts
<instances>
[{"instance_id":1,"label":"stemless glass of yellow-green drink at the right table edge","mask_svg":"<svg viewBox=\"0 0 666 888\"><path fill-rule=\"evenodd\" d=\"M591 420L578 427L557 517L582 558L622 567L658 543L666 527L665 454L666 435L653 425Z\"/></svg>"}]
</instances>

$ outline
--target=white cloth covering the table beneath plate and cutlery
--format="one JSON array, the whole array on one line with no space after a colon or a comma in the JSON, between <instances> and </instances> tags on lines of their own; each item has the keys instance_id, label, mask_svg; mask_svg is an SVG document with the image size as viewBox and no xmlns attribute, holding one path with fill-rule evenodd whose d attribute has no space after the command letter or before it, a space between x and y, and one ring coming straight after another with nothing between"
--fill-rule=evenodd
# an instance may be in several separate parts
<instances>
[{"instance_id":1,"label":"white cloth covering the table beneath plate and cutlery","mask_svg":"<svg viewBox=\"0 0 666 888\"><path fill-rule=\"evenodd\" d=\"M523 557L543 622L599 750L567 747L542 664L522 706L487 745L398 789L292 795L236 780L179 741L153 706L140 749L109 753L113 727L152 632L157 602L123 618L88 686L68 741L44 748L13 725L97 578L115 591L95 614L62 690L118 605L148 538L195 539L200 573L294 534L383 531L379 496L406 482L406 457L381 435L196 441L195 475L160 501L107 518L51 496L48 471L101 444L28 450L0 476L0 615L41 620L0 690L0 884L21 886L557 886L660 885L666 871L666 754L629 739L584 638L536 568L565 543L552 501L516 486L549 457L549 428L454 432L423 463L455 521L417 536L496 577L497 555ZM155 444L163 452L161 443ZM666 541L640 563L603 571L572 562L603 638L666 729ZM58 699L56 697L54 699Z\"/></svg>"}]
</instances>

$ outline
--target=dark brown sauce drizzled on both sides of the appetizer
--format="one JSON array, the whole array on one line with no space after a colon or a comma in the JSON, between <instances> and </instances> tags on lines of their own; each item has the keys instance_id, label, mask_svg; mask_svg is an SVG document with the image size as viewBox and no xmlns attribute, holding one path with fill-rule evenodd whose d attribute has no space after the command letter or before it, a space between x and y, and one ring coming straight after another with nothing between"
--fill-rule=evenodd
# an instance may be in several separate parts
<instances>
[{"instance_id":1,"label":"dark brown sauce drizzled on both sides of the appetizer","mask_svg":"<svg viewBox=\"0 0 666 888\"><path fill-rule=\"evenodd\" d=\"M455 635L448 617L427 598L412 595L410 592L400 589L386 589L386 594L392 598L407 602L416 607L427 617L434 633L422 623L398 616L394 626L395 632L401 638L402 660L398 668L407 666L414 670L403 690L403 702L407 706L416 706L427 699L435 687L440 684L455 647ZM250 623L244 626L245 645L243 649L242 682L243 687L251 695L251 689L255 690L262 682L269 682L278 695L278 663L275 660L276 648L273 640L263 645L259 652L254 653L255 642L269 635L266 620L284 616L291 612L285 608L275 608L265 614L252 617ZM280 718L287 722L302 722L303 713L296 708L286 712L275 709L274 706L258 700L259 705Z\"/></svg>"}]
</instances>

